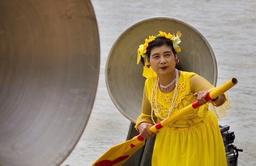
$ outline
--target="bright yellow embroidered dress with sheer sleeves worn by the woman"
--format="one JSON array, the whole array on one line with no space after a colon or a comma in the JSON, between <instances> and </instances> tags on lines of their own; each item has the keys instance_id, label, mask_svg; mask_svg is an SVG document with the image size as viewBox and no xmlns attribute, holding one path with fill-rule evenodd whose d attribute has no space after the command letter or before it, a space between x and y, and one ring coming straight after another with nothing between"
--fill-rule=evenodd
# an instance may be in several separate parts
<instances>
[{"instance_id":1,"label":"bright yellow embroidered dress with sheer sleeves worn by the woman","mask_svg":"<svg viewBox=\"0 0 256 166\"><path fill-rule=\"evenodd\" d=\"M194 81L192 81L192 78ZM136 129L141 122L153 124L151 120L151 94L157 76L145 82L142 113L136 122ZM198 81L199 80L199 81ZM192 86L193 85L193 86ZM181 71L178 82L178 98L172 114L196 101L194 93L214 88L203 77L195 73ZM166 118L171 107L174 90L163 93L158 88L153 92L154 119L162 120L156 111L155 93L159 114ZM228 108L229 100L225 103ZM220 111L220 112L223 112ZM225 112L224 112L225 114ZM186 116L172 122L156 134L152 166L226 166L225 148L220 134L216 110L209 111L208 104L194 109Z\"/></svg>"}]
</instances>

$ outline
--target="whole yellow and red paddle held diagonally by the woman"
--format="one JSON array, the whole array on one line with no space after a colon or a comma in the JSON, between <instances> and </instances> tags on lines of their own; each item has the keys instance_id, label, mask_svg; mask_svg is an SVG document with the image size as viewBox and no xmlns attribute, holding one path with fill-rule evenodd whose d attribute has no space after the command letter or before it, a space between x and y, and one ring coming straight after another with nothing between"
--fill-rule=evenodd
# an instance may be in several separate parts
<instances>
[{"instance_id":1,"label":"whole yellow and red paddle held diagonally by the woman","mask_svg":"<svg viewBox=\"0 0 256 166\"><path fill-rule=\"evenodd\" d=\"M232 78L228 82L221 85L219 88L213 90L206 97L206 101L209 102L212 99L220 96L222 93L226 92L237 83L236 78ZM154 126L149 128L150 131L156 133L160 128L167 126L170 122L173 122L184 115L188 114L191 110L200 107L201 105L198 101L188 105L183 108L179 112L173 114L171 117L157 123ZM129 141L125 141L121 144L118 144L112 148L110 148L107 152L105 152L98 160L96 160L92 166L121 166L124 162L126 162L129 157L132 156L138 149L140 149L145 144L145 139L138 135L133 137Z\"/></svg>"}]
</instances>

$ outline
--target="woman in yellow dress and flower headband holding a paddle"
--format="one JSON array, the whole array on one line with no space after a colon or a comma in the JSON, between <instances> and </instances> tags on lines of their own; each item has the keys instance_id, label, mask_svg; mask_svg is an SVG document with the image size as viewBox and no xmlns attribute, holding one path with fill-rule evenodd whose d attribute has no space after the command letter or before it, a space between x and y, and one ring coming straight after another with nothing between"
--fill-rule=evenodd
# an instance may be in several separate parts
<instances>
[{"instance_id":1,"label":"woman in yellow dress and flower headband holding a paddle","mask_svg":"<svg viewBox=\"0 0 256 166\"><path fill-rule=\"evenodd\" d=\"M136 129L146 139L154 136L149 127L195 102L206 103L206 96L215 87L195 73L175 69L179 59L181 33L177 36L159 32L150 36L138 49L138 59L144 67L145 81L142 112ZM146 57L144 62L144 57ZM143 57L143 58L142 58ZM150 74L149 74L150 73ZM220 106L228 101L220 95L211 101ZM222 166L227 165L225 148L217 122L218 114L209 111L208 104L194 109L170 123L156 134L152 166ZM224 105L223 105L224 106ZM228 107L225 107L227 109Z\"/></svg>"}]
</instances>

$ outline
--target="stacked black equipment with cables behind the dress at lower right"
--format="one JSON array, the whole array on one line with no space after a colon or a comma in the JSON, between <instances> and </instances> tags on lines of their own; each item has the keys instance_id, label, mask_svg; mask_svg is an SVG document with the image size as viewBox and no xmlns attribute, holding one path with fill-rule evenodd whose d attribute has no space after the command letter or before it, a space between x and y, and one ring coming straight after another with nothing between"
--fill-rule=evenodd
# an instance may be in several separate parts
<instances>
[{"instance_id":1,"label":"stacked black equipment with cables behind the dress at lower right","mask_svg":"<svg viewBox=\"0 0 256 166\"><path fill-rule=\"evenodd\" d=\"M225 146L225 152L227 157L228 166L237 166L238 152L243 152L243 149L237 149L236 145L233 145L235 140L234 132L228 131L228 125L219 125L220 133Z\"/></svg>"}]
</instances>

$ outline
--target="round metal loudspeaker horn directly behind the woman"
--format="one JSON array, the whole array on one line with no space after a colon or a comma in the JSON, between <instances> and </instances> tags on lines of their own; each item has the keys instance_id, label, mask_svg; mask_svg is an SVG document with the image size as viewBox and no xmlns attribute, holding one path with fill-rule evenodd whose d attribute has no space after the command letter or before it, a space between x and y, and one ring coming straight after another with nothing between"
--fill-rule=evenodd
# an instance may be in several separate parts
<instances>
[{"instance_id":1,"label":"round metal loudspeaker horn directly behind the woman","mask_svg":"<svg viewBox=\"0 0 256 166\"><path fill-rule=\"evenodd\" d=\"M133 123L141 112L145 79L137 65L137 49L146 38L159 31L182 33L178 69L195 72L216 86L217 63L210 44L194 27L176 18L152 17L141 20L122 32L108 55L105 79L108 93L117 109Z\"/></svg>"}]
</instances>

